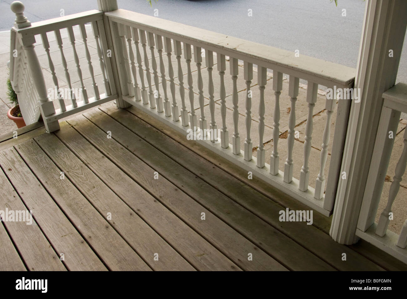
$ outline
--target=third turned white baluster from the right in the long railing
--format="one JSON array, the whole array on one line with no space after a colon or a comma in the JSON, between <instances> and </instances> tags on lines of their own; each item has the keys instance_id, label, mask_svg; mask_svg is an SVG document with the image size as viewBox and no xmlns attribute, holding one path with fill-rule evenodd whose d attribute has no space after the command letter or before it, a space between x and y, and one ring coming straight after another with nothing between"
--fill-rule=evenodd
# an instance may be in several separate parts
<instances>
[{"instance_id":1,"label":"third turned white baluster from the right in the long railing","mask_svg":"<svg viewBox=\"0 0 407 299\"><path fill-rule=\"evenodd\" d=\"M288 155L284 163L284 182L291 183L293 180L293 147L294 147L294 134L295 134L295 102L298 96L298 85L300 84L300 78L290 76L288 86L288 95L291 99L290 118L288 121L288 137L287 147Z\"/></svg>"}]
</instances>

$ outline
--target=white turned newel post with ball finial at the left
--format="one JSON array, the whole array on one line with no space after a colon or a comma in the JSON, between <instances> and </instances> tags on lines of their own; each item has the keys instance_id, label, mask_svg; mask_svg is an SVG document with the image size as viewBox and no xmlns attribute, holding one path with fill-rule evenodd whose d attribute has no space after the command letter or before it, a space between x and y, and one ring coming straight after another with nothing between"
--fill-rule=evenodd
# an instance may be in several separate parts
<instances>
[{"instance_id":1,"label":"white turned newel post with ball finial at the left","mask_svg":"<svg viewBox=\"0 0 407 299\"><path fill-rule=\"evenodd\" d=\"M17 33L20 33L19 29L31 26L31 22L24 16L24 4L20 1L14 1L11 3L11 10L15 13L14 27L17 28ZM42 118L44 119L44 125L46 130L50 133L59 130L59 123L57 120L52 122L46 121L46 116L50 116L55 113L55 107L52 100L48 98L47 89L45 86L44 75L42 74L41 66L37 54L34 50L35 37L32 34L22 35L22 43L24 52L27 57L27 63L31 72L35 88L38 93L38 106L41 111Z\"/></svg>"}]
</instances>

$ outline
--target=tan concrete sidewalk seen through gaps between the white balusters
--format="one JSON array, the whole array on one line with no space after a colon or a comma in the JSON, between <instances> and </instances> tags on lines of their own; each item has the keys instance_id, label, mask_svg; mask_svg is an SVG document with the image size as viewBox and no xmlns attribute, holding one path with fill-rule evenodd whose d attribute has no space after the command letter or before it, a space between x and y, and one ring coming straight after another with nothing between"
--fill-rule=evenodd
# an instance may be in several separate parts
<instances>
[{"instance_id":1,"label":"tan concrete sidewalk seen through gaps between the white balusters","mask_svg":"<svg viewBox=\"0 0 407 299\"><path fill-rule=\"evenodd\" d=\"M100 93L105 92L103 90L103 75L102 71L100 68L100 65L98 63L98 55L97 55L97 47L96 47L96 41L94 40L94 37L92 35L92 31L89 26L87 27L88 31L88 47L91 55L91 60L92 60L92 66L94 69L94 75L95 75L95 81L96 84L99 87ZM79 28L78 26L74 26L74 33L75 37L77 38L76 43L76 50L79 56L79 63L81 65L81 70L83 74L83 81L84 85L88 90L88 96L92 97L93 96L93 90L92 90L92 78L90 76L90 71L88 69L88 61L86 59L86 53L85 53L85 47L83 46L83 41L81 40L81 36L79 34ZM70 41L68 39L68 33L66 29L61 30L61 36L62 36L62 41L63 41L63 52L64 56L67 61L68 65L68 70L70 73L70 80L72 83L73 88L81 88L81 83L79 80L79 76L77 74L77 69L76 69L76 63L74 61L74 54L70 45ZM64 67L61 63L61 54L59 51L59 48L56 44L55 37L51 33L48 33L48 39L50 42L50 56L53 59L53 63L55 66L55 72L58 78L59 82L59 87L61 88L67 88L68 87L68 80L65 76L65 70ZM17 127L15 126L14 122L9 120L7 118L7 110L10 108L10 105L8 104L7 96L6 96L6 79L7 79L7 61L9 61L9 48L10 45L10 32L1 32L0 33L0 80L3 82L0 84L0 105L1 105L1 113L0 113L0 128L1 128L1 134L7 133L9 131L13 131ZM52 74L48 65L48 57L46 55L46 52L42 46L41 38L37 36L37 43L35 44L35 50L37 52L40 64L42 66L43 74L44 74L44 79L46 82L47 88L53 88L54 83L52 79ZM140 49L141 45L140 45ZM133 45L133 50L135 50L135 47ZM192 48L193 51L193 48ZM156 62L158 65L158 74L160 74L160 69L159 69L159 55L158 52L155 51L154 56L156 57ZM150 72L152 74L151 70L151 52L149 48L147 47L147 58L149 59L149 65L150 65ZM165 53L163 55L164 59L164 65L166 69L166 79L168 80L168 62L167 62L167 57L165 56ZM142 60L144 61L144 55L142 55ZM204 60L204 59L203 59ZM181 109L181 100L179 98L179 78L177 76L178 74L178 68L177 68L177 60L175 55L171 56L171 61L173 64L174 68L174 74L175 74L175 84L176 84L176 94L177 94L177 104L179 107L179 110ZM184 57L182 56L182 71L184 73L184 88L185 88L185 104L190 111L191 105L189 102L188 98L188 80L187 80L187 65L185 62ZM212 71L212 77L213 77L213 82L214 82L214 100L215 100L215 120L218 124L218 128L221 127L221 103L219 99L219 74L217 71L217 65L216 65L216 55L214 55L214 67ZM137 63L136 63L137 65ZM144 65L144 63L143 63ZM204 113L208 122L208 126L210 123L210 110L209 110L209 93L208 93L208 86L205 85L208 83L208 70L206 67L204 67L205 61L202 63L201 67L201 74L202 74L202 79L204 82ZM197 71L197 65L194 63L194 61L191 61L191 70L192 70L192 75L193 75L193 91L194 91L194 110L197 113L197 118L199 120L199 117L201 115L201 109L199 107L199 100L198 100L198 89L197 89L197 79L198 79L198 71ZM140 77L138 74L137 70L137 76L138 76L138 84L141 87L140 84ZM147 80L144 77L144 82L146 85ZM160 78L161 82L161 78ZM258 138L258 99L259 99L259 89L256 84L257 82L257 72L254 66L254 74L253 74L253 80L252 80L252 92L253 92L253 97L252 97L252 113L251 113L251 118L252 118L252 124L251 124L251 137L252 137L252 142L253 142L253 155L256 156L256 148L258 146L259 138ZM153 85L153 90L155 89L154 86L154 81L153 81L153 76L151 75L151 84ZM162 85L161 83L159 85ZM266 162L269 163L269 157L271 155L271 152L273 151L273 112L274 112L274 103L275 103L275 97L274 97L274 91L272 89L273 85L273 74L272 71L269 70L267 74L267 85L265 89L265 107L266 107L266 112L265 112L265 132L264 132L264 138L263 138L263 143L265 144L265 149L266 149ZM280 131L280 138L278 141L278 152L280 155L280 170L284 170L284 162L285 159L287 158L287 135L288 135L288 122L289 122L289 114L290 114L290 106L291 106L291 101L288 96L288 79L287 77L284 77L283 81L283 89L281 92L280 96L280 126L279 126L279 131ZM232 80L230 76L230 70L229 70L229 63L227 61L226 63L226 71L225 71L225 89L226 89L226 107L227 107L227 113L226 113L226 124L229 130L229 143L232 143L232 135L234 131L234 126L233 126L233 117L232 117ZM237 88L238 88L238 95L239 95L239 133L240 133L240 140L241 140L241 149L243 151L244 148L244 141L246 137L246 127L245 127L245 98L246 98L246 85L245 81L243 79L243 64L239 65L239 76L237 80ZM295 115L296 115L296 120L295 120L295 130L299 132L300 137L295 140L294 142L294 148L293 148L293 160L294 160L294 170L293 170L293 176L296 178L299 178L299 173L300 169L303 164L303 159L304 159L304 136L305 136L305 127L306 127L306 118L308 114L308 103L306 102L306 85L301 85L300 90L299 90L299 95L298 95L298 100L296 102L296 110L295 110ZM164 93L162 90L162 86L159 86L160 94L162 98L164 98ZM170 101L172 101L171 98L171 92L169 89L169 84L167 82L167 94L168 98ZM314 110L313 110L313 135L312 135L312 148L311 148L311 155L309 159L309 171L310 171L310 179L309 179L309 184L312 187L315 187L315 179L317 178L317 175L319 173L319 164L320 164L320 153L321 153L321 144L322 144L322 135L324 132L325 128L325 123L326 123L326 111L325 111L325 100L326 97L324 96L324 92L321 90L318 93L317 96L317 103L315 104ZM66 99L65 100L66 105L70 105L70 100ZM57 100L54 101L55 108L59 108L59 103L57 103ZM405 118L405 117L404 117ZM335 111L332 115L331 118L331 130L330 130L330 142L328 145L328 159L326 162L325 166L325 175L328 175L328 170L329 170L329 162L330 162L330 155L331 155L331 150L332 150L332 143L333 143L333 137L334 137L334 130L335 130L335 122L336 122L336 107ZM395 137L395 144L394 144L394 150L392 153L392 158L391 162L389 165L389 169L387 171L387 179L385 181L385 185L383 188L383 194L382 194L382 199L381 203L379 206L379 212L383 210L385 207L385 204L387 203L387 196L389 192L389 186L392 182L392 177L394 176L394 169L396 167L398 158L400 157L401 151L403 150L403 133L404 133L404 128L406 126L406 121L405 120L400 120L397 134ZM400 188L400 191L398 193L398 196L394 202L394 220L390 222L389 229L392 231L395 231L396 233L400 232L400 229L407 218L407 173L403 176L403 181L401 182L402 187ZM378 217L376 217L376 221L378 220Z\"/></svg>"}]
</instances>

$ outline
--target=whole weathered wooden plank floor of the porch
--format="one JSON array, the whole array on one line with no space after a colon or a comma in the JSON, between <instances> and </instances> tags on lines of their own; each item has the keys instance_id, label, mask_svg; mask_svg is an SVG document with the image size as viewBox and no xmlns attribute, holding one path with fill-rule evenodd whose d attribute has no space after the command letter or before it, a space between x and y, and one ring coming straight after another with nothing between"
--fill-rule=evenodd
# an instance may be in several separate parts
<instances>
[{"instance_id":1,"label":"whole weathered wooden plank floor of the porch","mask_svg":"<svg viewBox=\"0 0 407 299\"><path fill-rule=\"evenodd\" d=\"M33 211L0 224L0 270L407 270L315 211L280 222L307 207L134 107L36 127L0 143L0 210Z\"/></svg>"}]
</instances>

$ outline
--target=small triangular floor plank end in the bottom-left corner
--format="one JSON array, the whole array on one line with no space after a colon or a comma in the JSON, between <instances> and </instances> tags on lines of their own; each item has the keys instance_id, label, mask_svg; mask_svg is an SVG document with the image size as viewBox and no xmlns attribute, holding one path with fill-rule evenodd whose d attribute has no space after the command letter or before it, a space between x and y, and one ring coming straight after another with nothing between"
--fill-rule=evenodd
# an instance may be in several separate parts
<instances>
[{"instance_id":1,"label":"small triangular floor plank end in the bottom-left corner","mask_svg":"<svg viewBox=\"0 0 407 299\"><path fill-rule=\"evenodd\" d=\"M0 223L0 271L27 271L11 242L6 228Z\"/></svg>"}]
</instances>

